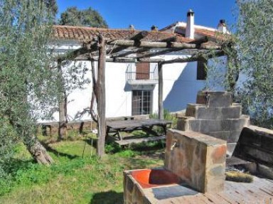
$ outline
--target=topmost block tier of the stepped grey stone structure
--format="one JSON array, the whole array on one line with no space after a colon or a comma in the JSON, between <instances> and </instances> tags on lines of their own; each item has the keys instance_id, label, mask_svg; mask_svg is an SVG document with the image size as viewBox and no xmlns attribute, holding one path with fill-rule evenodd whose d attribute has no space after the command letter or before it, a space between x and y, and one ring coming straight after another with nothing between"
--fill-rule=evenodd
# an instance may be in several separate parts
<instances>
[{"instance_id":1,"label":"topmost block tier of the stepped grey stone structure","mask_svg":"<svg viewBox=\"0 0 273 204\"><path fill-rule=\"evenodd\" d=\"M232 104L231 92L198 92L196 103L207 107L230 107Z\"/></svg>"}]
</instances>

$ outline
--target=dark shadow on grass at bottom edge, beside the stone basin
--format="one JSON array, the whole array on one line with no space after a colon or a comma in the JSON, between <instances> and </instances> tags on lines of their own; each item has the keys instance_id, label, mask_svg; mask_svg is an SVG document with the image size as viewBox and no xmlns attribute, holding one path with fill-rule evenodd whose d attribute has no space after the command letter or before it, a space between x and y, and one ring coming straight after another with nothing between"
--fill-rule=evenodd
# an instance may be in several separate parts
<instances>
[{"instance_id":1,"label":"dark shadow on grass at bottom edge, beside the stone basin","mask_svg":"<svg viewBox=\"0 0 273 204\"><path fill-rule=\"evenodd\" d=\"M89 204L123 204L123 193L114 190L95 193Z\"/></svg>"}]
</instances>

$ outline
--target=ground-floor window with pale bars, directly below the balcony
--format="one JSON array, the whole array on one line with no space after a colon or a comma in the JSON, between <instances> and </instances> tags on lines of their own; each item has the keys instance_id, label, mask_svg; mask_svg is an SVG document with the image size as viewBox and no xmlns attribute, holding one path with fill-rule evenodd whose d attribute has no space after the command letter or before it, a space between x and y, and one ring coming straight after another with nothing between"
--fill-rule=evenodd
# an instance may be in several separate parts
<instances>
[{"instance_id":1,"label":"ground-floor window with pale bars, directly below the balcony","mask_svg":"<svg viewBox=\"0 0 273 204\"><path fill-rule=\"evenodd\" d=\"M152 104L152 92L147 90L132 91L132 115L150 114Z\"/></svg>"}]
</instances>

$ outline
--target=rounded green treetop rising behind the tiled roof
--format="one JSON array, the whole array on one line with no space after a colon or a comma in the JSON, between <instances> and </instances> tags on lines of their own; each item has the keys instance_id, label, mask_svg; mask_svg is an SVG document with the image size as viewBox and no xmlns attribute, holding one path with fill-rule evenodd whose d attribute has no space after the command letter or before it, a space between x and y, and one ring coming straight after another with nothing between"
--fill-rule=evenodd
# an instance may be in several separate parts
<instances>
[{"instance_id":1,"label":"rounded green treetop rising behind the tiled roof","mask_svg":"<svg viewBox=\"0 0 273 204\"><path fill-rule=\"evenodd\" d=\"M90 26L97 28L108 27L106 21L98 11L95 11L91 7L80 11L75 6L68 8L60 15L60 25Z\"/></svg>"}]
</instances>

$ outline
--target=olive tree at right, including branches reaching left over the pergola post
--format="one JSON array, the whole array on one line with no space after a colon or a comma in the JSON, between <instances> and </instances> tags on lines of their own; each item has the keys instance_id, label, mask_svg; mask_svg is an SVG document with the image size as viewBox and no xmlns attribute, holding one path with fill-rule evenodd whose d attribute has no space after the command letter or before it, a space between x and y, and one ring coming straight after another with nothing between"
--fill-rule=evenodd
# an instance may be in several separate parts
<instances>
[{"instance_id":1,"label":"olive tree at right, including branches reaching left over the pergola post","mask_svg":"<svg viewBox=\"0 0 273 204\"><path fill-rule=\"evenodd\" d=\"M226 36L228 44L223 46L227 69L213 73L208 68L208 72L225 78L223 87L234 93L253 124L272 128L273 4L271 0L237 0L235 11L234 33Z\"/></svg>"}]
</instances>

